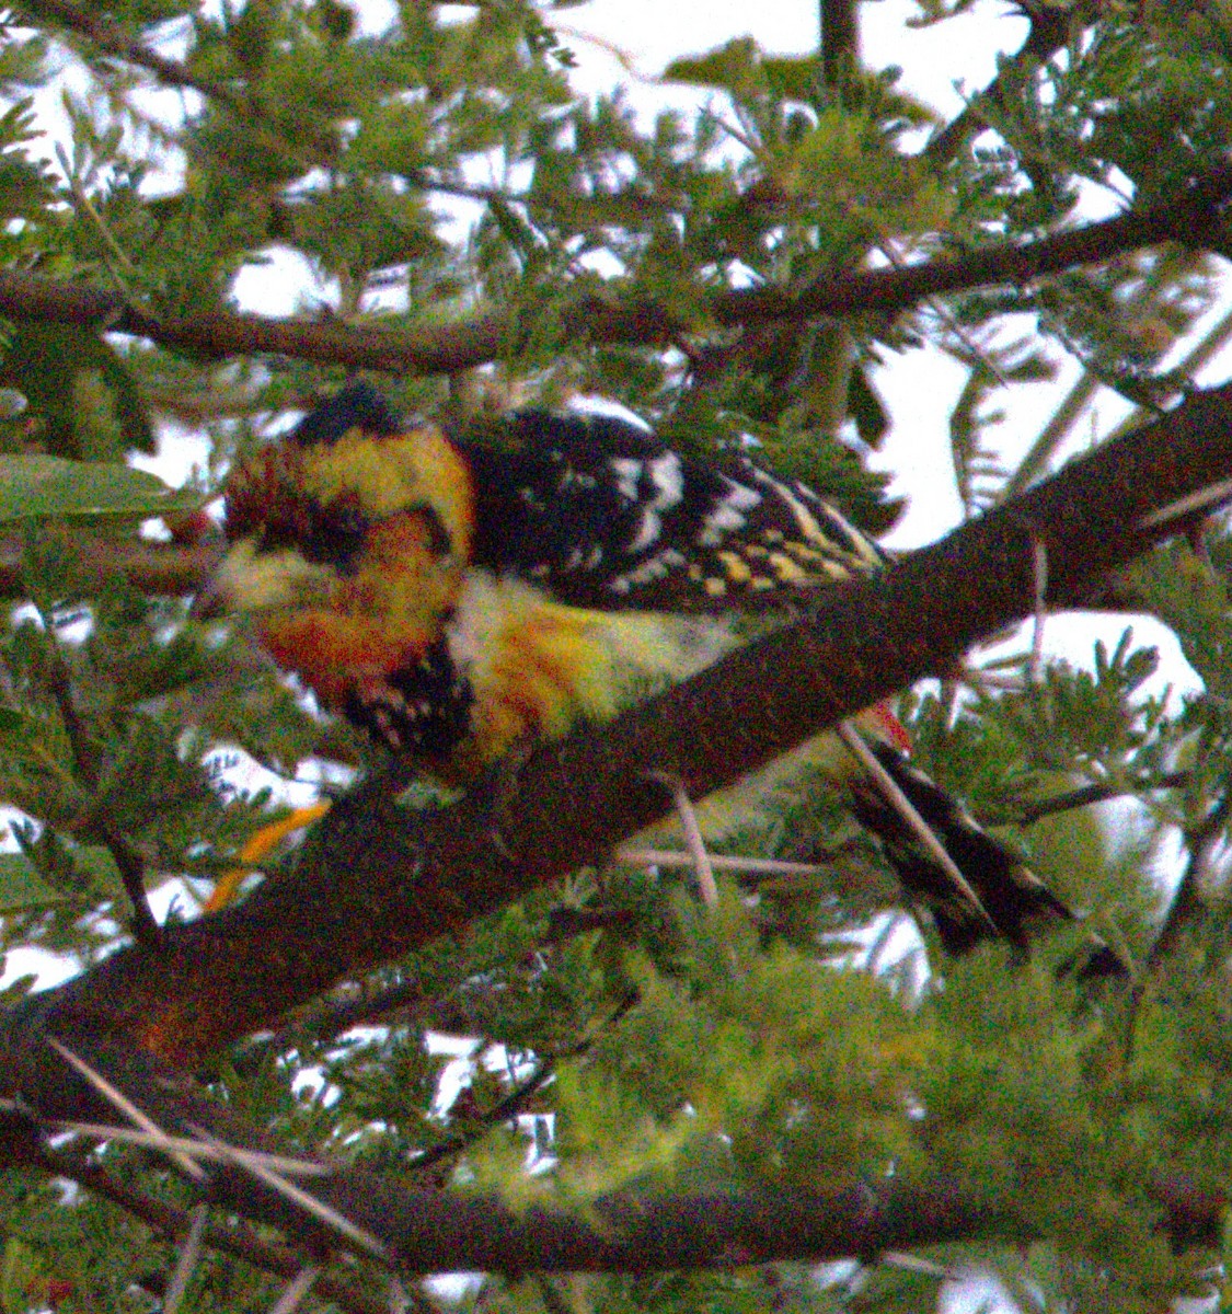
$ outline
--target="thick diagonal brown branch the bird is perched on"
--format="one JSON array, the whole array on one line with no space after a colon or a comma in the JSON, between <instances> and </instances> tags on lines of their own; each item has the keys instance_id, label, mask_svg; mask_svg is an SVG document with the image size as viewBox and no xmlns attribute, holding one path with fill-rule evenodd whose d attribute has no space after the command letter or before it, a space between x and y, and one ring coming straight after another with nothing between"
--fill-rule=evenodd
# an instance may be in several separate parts
<instances>
[{"instance_id":1,"label":"thick diagonal brown branch the bird is perched on","mask_svg":"<svg viewBox=\"0 0 1232 1314\"><path fill-rule=\"evenodd\" d=\"M657 820L648 770L695 798L826 725L944 671L1031 611L1032 540L1051 598L1073 604L1173 526L1144 519L1232 476L1232 386L1074 463L881 577L829 590L814 615L749 645L602 732L536 752L512 779L423 819L352 795L299 870L242 905L165 928L12 1018L18 1033L72 1020L185 1062L269 1025L336 980L588 862ZM0 1050L3 1054L3 1050Z\"/></svg>"}]
</instances>

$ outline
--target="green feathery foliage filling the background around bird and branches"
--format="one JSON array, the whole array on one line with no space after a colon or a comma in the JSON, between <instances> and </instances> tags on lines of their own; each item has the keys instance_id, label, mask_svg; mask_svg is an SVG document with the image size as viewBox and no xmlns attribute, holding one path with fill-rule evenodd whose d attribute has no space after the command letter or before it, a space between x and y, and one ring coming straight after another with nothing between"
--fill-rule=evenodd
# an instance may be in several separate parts
<instances>
[{"instance_id":1,"label":"green feathery foliage filling the background around bird and branches","mask_svg":"<svg viewBox=\"0 0 1232 1314\"><path fill-rule=\"evenodd\" d=\"M969 8L982 5L922 3L921 18ZM848 58L827 83L820 58L753 38L682 53L663 79L705 88L709 108L646 121L619 92L575 95L554 26L567 16L523 0L401 0L378 35L340 0L28 0L0 16L0 267L192 319L286 248L348 322L415 331L499 311L491 368L381 386L406 411L468 420L602 394L699 452L753 435L873 532L898 511L864 464L889 422L876 372L930 344L967 371L950 439L975 512L1049 469L1091 397L1115 393L1133 423L1183 394L1232 325L1207 315L1225 233L1207 235L1208 254L1124 254L842 323L742 334L711 298L1045 235L1076 222L1093 188L1147 204L1223 160L1225 5L1048 8L1069 14L1069 41L1044 63L1005 66L1000 93L975 106L986 131L921 154L930 113L906 79ZM180 54L139 58L162 50ZM184 93L172 116L147 93L160 80ZM68 129L53 168L39 133L56 88ZM461 238L444 221L454 202L473 215ZM651 302L679 326L671 348L587 336L588 309ZM1198 340L1203 315L1215 327ZM1081 381L1007 468L1000 410L1067 359ZM101 322L3 325L0 549L13 582L0 799L28 819L0 857L4 950L96 962L127 934L125 863L151 887L185 879L172 916L185 915L277 815L268 792L227 783L229 754L285 779L313 761L364 763L368 746L306 711L243 635L185 625L184 598L147 595L116 566L142 519L168 516L192 543L202 527L183 512L217 491L234 455L347 373L194 359ZM180 493L129 464L169 422L209 442ZM495 1183L515 1200L584 1209L615 1185L787 1190L943 1171L1038 1238L936 1247L906 1268L868 1256L821 1272L493 1276L464 1297L489 1310L917 1310L972 1269L1048 1310L1160 1310L1218 1289L1232 1183L1229 561L1212 526L1118 582L1122 606L1176 631L1200 692L1144 692L1156 657L1127 628L1085 666L1013 660L904 699L919 763L1089 911L1133 963L1132 989L1093 997L1056 971L1078 932L1028 964L997 949L943 962L927 926L898 959L888 929L855 937L896 894L880 854L805 779L730 848L820 859L818 876L729 882L704 917L669 870L579 872L238 1047L211 1074L218 1093L288 1146L408 1180ZM1047 805L1082 790L1136 805L1098 824ZM1185 884L1170 903L1155 859L1177 836L1166 866ZM877 925L900 926L893 915ZM356 1018L366 1025L344 1026ZM424 1043L433 1029L477 1041L448 1109L448 1060ZM120 1146L64 1154L185 1198ZM1216 1201L1191 1244L1164 1229L1165 1181ZM175 1263L114 1205L34 1175L0 1183L0 1230L7 1311L50 1298L152 1310ZM265 1309L276 1290L211 1255L188 1307Z\"/></svg>"}]
</instances>

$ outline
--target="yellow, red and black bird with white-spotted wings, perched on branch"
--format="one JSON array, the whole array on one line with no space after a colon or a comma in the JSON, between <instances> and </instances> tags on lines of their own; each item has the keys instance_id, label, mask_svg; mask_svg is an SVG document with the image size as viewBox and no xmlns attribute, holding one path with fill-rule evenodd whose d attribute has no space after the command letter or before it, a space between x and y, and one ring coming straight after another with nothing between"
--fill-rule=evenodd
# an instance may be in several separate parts
<instances>
[{"instance_id":1,"label":"yellow, red and black bird with white-spotted wings, perched on branch","mask_svg":"<svg viewBox=\"0 0 1232 1314\"><path fill-rule=\"evenodd\" d=\"M248 615L324 708L465 786L517 745L687 678L739 641L741 618L796 614L888 565L835 506L746 452L701 460L612 414L514 411L500 430L498 445L405 423L348 384L231 472L226 555L193 614ZM947 953L990 938L1024 951L1073 920L910 762L887 704L856 725L860 757L833 736L825 757ZM1101 942L1082 972L1122 966Z\"/></svg>"}]
</instances>

